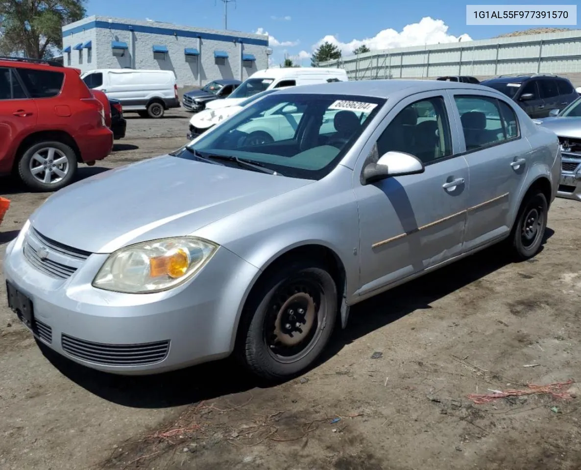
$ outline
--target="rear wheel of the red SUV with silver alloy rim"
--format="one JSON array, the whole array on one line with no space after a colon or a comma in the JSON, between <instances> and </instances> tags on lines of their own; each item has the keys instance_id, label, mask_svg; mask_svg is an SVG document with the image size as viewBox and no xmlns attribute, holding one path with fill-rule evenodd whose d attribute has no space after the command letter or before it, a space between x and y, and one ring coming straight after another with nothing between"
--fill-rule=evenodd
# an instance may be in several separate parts
<instances>
[{"instance_id":1,"label":"rear wheel of the red SUV with silver alloy rim","mask_svg":"<svg viewBox=\"0 0 581 470\"><path fill-rule=\"evenodd\" d=\"M33 191L51 192L70 184L77 172L77 155L58 141L38 142L26 149L17 170Z\"/></svg>"}]
</instances>

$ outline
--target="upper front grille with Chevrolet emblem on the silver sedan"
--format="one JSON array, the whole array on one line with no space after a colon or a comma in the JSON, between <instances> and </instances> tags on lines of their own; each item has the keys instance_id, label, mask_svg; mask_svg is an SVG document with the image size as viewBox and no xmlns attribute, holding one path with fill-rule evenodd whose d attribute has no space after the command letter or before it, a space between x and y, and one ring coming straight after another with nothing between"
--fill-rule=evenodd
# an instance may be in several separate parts
<instances>
[{"instance_id":1,"label":"upper front grille with Chevrolet emblem on the silver sedan","mask_svg":"<svg viewBox=\"0 0 581 470\"><path fill-rule=\"evenodd\" d=\"M68 279L91 253L55 242L31 228L26 234L23 254L38 271L56 279Z\"/></svg>"}]
</instances>

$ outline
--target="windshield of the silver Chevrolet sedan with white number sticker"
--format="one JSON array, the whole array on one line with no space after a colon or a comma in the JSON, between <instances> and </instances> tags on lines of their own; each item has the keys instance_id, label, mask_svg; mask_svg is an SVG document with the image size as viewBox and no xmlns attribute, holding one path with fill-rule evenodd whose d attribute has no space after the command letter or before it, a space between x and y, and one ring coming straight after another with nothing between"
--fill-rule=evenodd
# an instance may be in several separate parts
<instances>
[{"instance_id":1,"label":"windshield of the silver Chevrolet sedan with white number sticker","mask_svg":"<svg viewBox=\"0 0 581 470\"><path fill-rule=\"evenodd\" d=\"M188 145L198 155L230 157L294 178L320 180L337 166L383 98L273 93ZM195 159L187 149L176 156Z\"/></svg>"}]
</instances>

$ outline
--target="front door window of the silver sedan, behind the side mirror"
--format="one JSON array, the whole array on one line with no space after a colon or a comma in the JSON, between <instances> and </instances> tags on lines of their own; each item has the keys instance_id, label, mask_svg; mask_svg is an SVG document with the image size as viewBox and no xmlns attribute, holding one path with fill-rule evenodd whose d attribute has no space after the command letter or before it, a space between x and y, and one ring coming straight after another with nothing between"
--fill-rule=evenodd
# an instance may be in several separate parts
<instances>
[{"instance_id":1,"label":"front door window of the silver sedan, behind the side mirror","mask_svg":"<svg viewBox=\"0 0 581 470\"><path fill-rule=\"evenodd\" d=\"M423 99L402 109L377 141L379 155L410 153L424 164L452 155L446 106L441 96Z\"/></svg>"}]
</instances>

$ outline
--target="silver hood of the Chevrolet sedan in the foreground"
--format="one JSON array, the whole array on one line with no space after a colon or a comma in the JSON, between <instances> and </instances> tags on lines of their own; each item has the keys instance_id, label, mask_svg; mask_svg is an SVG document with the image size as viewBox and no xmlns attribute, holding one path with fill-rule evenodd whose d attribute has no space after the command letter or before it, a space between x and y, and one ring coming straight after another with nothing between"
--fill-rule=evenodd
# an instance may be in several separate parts
<instances>
[{"instance_id":1,"label":"silver hood of the Chevrolet sedan in the foreground","mask_svg":"<svg viewBox=\"0 0 581 470\"><path fill-rule=\"evenodd\" d=\"M312 182L164 155L61 189L30 223L53 241L111 253L132 243L193 234Z\"/></svg>"}]
</instances>

